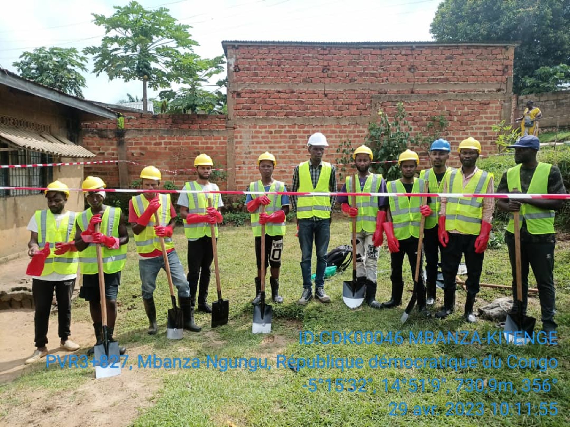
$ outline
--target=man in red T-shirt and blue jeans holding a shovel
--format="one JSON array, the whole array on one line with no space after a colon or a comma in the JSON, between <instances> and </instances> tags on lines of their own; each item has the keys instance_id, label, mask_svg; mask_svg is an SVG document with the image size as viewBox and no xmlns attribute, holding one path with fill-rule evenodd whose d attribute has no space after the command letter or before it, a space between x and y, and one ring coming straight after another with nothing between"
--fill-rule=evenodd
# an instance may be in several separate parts
<instances>
[{"instance_id":1,"label":"man in red T-shirt and blue jeans holding a shovel","mask_svg":"<svg viewBox=\"0 0 570 427\"><path fill-rule=\"evenodd\" d=\"M157 332L153 294L156 276L161 269L165 269L160 237L164 239L172 283L178 289L178 301L184 313L184 328L192 332L200 332L202 328L194 324L194 309L190 304L188 280L172 240L177 215L174 205L170 202L170 194L155 193L162 178L160 170L156 167L146 166L141 170L140 178L143 190L146 192L133 196L129 201L129 222L135 234L135 246L139 254L143 304L149 320L147 333L154 335ZM158 222L156 222L155 213L158 215Z\"/></svg>"}]
</instances>

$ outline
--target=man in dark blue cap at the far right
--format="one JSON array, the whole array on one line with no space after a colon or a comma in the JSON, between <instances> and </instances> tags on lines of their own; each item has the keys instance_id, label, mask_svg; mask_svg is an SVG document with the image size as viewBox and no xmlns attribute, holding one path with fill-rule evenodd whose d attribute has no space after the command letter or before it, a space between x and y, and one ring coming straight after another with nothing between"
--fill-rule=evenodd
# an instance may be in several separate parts
<instances>
[{"instance_id":1,"label":"man in dark blue cap at the far right","mask_svg":"<svg viewBox=\"0 0 570 427\"><path fill-rule=\"evenodd\" d=\"M523 136L516 144L508 148L515 149L516 166L503 174L497 189L498 193L529 194L566 194L560 170L548 163L536 160L540 148L536 136ZM522 266L521 282L523 287L523 314L526 314L528 302L528 265L532 267L538 285L538 296L542 312L542 328L545 332L556 331L554 321L555 289L554 270L554 211L560 209L563 200L556 199L501 199L499 209L511 213L505 231L508 256L511 260L512 295L516 300L515 269L515 225L512 212L520 212L520 263ZM518 315L516 305L513 315ZM516 318L516 317L515 317Z\"/></svg>"}]
</instances>

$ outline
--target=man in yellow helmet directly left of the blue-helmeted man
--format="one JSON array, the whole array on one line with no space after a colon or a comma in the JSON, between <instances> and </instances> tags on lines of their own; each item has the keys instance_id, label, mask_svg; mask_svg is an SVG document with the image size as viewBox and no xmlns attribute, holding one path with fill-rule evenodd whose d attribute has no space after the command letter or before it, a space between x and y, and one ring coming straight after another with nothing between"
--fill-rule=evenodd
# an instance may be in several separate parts
<instances>
[{"instance_id":1,"label":"man in yellow helmet directly left of the blue-helmeted man","mask_svg":"<svg viewBox=\"0 0 570 427\"><path fill-rule=\"evenodd\" d=\"M388 182L389 193L427 193L427 181L415 177L416 170L420 164L420 157L412 150L406 150L398 157L398 165L402 171L399 180ZM412 271L412 280L416 272L416 261L418 254L418 243L420 238L421 217L429 217L431 208L430 199L426 204L421 205L420 197L399 196L390 197L390 211L388 220L384 222L386 240L390 250L390 280L392 281L392 297L382 303L382 308L393 308L402 303L402 292L404 291L404 280L402 279L402 263L404 257L408 255L408 263ZM420 258L420 266L422 258ZM424 278L420 267L418 282L414 283L414 290L417 295L418 311L429 318L430 312L426 308L426 289Z\"/></svg>"}]
</instances>

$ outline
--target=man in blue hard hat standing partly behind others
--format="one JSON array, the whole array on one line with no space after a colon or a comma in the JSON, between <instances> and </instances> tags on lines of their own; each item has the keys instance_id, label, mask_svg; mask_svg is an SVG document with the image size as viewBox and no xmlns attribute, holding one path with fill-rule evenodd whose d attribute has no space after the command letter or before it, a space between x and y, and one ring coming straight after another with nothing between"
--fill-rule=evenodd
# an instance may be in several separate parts
<instances>
[{"instance_id":1,"label":"man in blue hard hat standing partly behind others","mask_svg":"<svg viewBox=\"0 0 570 427\"><path fill-rule=\"evenodd\" d=\"M420 171L420 180L427 180L430 193L441 193L443 181L452 170L446 166L451 146L445 139L433 141L429 151L431 168ZM437 282L437 263L439 262L439 239L437 237L437 215L439 212L439 197L431 198L429 204L431 214L426 218L424 228L424 253L426 255L426 305L435 303L435 283Z\"/></svg>"}]
</instances>

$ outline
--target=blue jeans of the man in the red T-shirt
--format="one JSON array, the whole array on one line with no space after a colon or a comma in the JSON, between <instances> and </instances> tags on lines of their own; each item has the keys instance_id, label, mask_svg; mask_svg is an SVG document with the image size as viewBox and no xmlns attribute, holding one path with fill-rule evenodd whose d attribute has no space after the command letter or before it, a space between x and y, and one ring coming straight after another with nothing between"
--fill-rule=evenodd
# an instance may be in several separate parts
<instances>
[{"instance_id":1,"label":"blue jeans of the man in the red T-shirt","mask_svg":"<svg viewBox=\"0 0 570 427\"><path fill-rule=\"evenodd\" d=\"M175 250L168 254L168 264L170 266L172 283L178 288L178 296L188 298L190 296L188 280L186 280L184 267L182 267ZM164 269L164 258L162 258L162 255L160 257L139 259L139 273L144 299L152 298L154 288L156 288L156 276L160 269Z\"/></svg>"}]
</instances>

